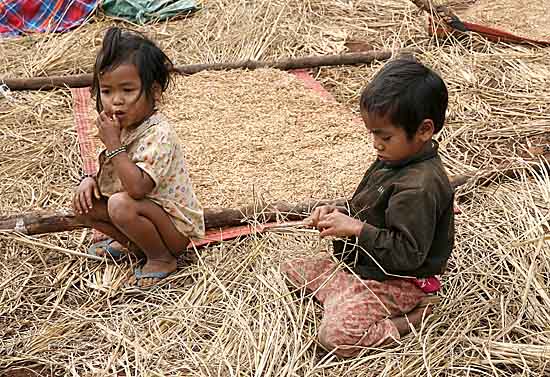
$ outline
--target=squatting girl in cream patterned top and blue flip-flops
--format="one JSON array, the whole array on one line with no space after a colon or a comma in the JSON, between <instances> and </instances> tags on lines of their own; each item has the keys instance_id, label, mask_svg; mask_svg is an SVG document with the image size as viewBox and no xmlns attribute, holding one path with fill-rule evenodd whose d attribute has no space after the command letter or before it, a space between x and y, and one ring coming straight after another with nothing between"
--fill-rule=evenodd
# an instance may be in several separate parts
<instances>
[{"instance_id":1,"label":"squatting girl in cream patterned top and blue flip-flops","mask_svg":"<svg viewBox=\"0 0 550 377\"><path fill-rule=\"evenodd\" d=\"M145 255L129 281L138 287L176 271L176 257L190 238L204 234L202 207L178 136L156 110L171 69L170 59L143 35L107 31L92 84L105 149L99 172L83 177L73 198L76 214L110 237L89 253Z\"/></svg>"}]
</instances>

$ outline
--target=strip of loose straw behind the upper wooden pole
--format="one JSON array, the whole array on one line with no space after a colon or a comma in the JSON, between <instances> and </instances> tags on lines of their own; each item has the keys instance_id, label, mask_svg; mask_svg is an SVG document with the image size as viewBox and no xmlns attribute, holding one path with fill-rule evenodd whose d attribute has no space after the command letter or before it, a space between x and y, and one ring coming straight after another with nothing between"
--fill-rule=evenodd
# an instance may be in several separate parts
<instances>
[{"instance_id":1,"label":"strip of loose straw behind the upper wooden pole","mask_svg":"<svg viewBox=\"0 0 550 377\"><path fill-rule=\"evenodd\" d=\"M336 54L352 41L399 48L426 40L416 13L405 0L206 0L204 10L188 19L125 26L151 35L182 65ZM102 31L113 23L98 16L76 32L2 41L0 75L91 72Z\"/></svg>"}]
</instances>

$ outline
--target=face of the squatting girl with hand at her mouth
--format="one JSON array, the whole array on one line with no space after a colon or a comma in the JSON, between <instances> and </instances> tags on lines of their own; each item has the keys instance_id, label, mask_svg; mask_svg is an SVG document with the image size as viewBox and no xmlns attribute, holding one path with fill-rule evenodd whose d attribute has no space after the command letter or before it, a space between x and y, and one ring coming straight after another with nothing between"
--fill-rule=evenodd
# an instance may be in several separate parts
<instances>
[{"instance_id":1,"label":"face of the squatting girl with hand at her mouth","mask_svg":"<svg viewBox=\"0 0 550 377\"><path fill-rule=\"evenodd\" d=\"M153 103L141 92L139 72L133 64L121 64L99 75L103 111L116 117L122 128L139 125L153 112Z\"/></svg>"}]
</instances>

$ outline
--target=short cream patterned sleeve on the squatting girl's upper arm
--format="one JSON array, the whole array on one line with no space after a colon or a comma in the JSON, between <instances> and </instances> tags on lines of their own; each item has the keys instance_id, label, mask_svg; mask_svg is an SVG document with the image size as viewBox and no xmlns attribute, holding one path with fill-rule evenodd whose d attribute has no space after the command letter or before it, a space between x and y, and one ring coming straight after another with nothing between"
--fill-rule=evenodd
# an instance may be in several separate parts
<instances>
[{"instance_id":1,"label":"short cream patterned sleeve on the squatting girl's upper arm","mask_svg":"<svg viewBox=\"0 0 550 377\"><path fill-rule=\"evenodd\" d=\"M172 160L174 147L170 139L160 130L151 127L140 140L132 161L155 182L155 187L163 181Z\"/></svg>"}]
</instances>

